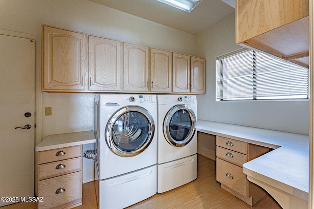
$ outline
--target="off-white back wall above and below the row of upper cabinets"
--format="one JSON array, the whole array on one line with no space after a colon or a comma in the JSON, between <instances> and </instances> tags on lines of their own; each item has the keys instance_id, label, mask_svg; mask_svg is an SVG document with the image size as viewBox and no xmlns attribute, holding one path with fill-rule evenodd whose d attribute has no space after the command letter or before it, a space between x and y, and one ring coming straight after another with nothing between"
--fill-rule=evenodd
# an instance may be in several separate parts
<instances>
[{"instance_id":1,"label":"off-white back wall above and below the row of upper cabinets","mask_svg":"<svg viewBox=\"0 0 314 209\"><path fill-rule=\"evenodd\" d=\"M88 0L0 0L0 29L41 37L41 24L67 28L123 42L195 55L195 35L123 13ZM92 93L40 92L40 38L36 40L36 144L51 134L94 129ZM45 116L52 107L52 116ZM41 120L41 121L40 121ZM84 145L83 151L91 149ZM83 160L83 182L93 162Z\"/></svg>"}]
</instances>

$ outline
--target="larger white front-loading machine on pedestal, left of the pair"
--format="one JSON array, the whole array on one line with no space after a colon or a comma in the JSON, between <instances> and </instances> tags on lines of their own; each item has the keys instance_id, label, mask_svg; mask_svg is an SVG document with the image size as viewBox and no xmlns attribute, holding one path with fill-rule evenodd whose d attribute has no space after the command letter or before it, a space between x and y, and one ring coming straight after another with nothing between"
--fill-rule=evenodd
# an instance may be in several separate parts
<instances>
[{"instance_id":1,"label":"larger white front-loading machine on pedestal, left of the pair","mask_svg":"<svg viewBox=\"0 0 314 209\"><path fill-rule=\"evenodd\" d=\"M99 209L122 209L157 192L156 95L95 98Z\"/></svg>"}]
</instances>

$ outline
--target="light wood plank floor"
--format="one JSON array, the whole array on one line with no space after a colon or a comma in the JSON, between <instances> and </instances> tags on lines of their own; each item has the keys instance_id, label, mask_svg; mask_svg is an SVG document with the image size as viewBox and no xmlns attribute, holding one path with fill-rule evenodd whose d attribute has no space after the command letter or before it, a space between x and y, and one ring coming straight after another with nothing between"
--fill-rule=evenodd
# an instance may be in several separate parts
<instances>
[{"instance_id":1,"label":"light wood plank floor","mask_svg":"<svg viewBox=\"0 0 314 209\"><path fill-rule=\"evenodd\" d=\"M179 188L139 202L127 209L281 209L277 202L266 195L251 207L216 182L215 161L198 155L197 179ZM36 203L16 203L1 209L37 209ZM94 182L83 184L83 205L75 209L97 209Z\"/></svg>"}]
</instances>

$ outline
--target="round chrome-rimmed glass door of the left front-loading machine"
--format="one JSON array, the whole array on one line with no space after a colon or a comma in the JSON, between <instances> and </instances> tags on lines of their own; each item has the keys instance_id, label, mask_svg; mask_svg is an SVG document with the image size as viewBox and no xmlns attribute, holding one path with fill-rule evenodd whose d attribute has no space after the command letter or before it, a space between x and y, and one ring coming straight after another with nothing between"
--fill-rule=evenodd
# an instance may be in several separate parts
<instances>
[{"instance_id":1,"label":"round chrome-rimmed glass door of the left front-loading machine","mask_svg":"<svg viewBox=\"0 0 314 209\"><path fill-rule=\"evenodd\" d=\"M107 123L106 141L117 155L131 157L144 151L154 136L154 120L142 107L118 110Z\"/></svg>"}]
</instances>

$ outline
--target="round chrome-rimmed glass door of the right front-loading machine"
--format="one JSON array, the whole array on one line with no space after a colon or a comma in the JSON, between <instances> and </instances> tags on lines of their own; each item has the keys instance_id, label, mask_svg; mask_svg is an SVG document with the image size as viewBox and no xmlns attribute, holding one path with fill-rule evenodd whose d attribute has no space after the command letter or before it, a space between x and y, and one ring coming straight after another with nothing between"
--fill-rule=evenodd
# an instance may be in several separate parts
<instances>
[{"instance_id":1,"label":"round chrome-rimmed glass door of the right front-loading machine","mask_svg":"<svg viewBox=\"0 0 314 209\"><path fill-rule=\"evenodd\" d=\"M170 109L163 125L165 138L174 146L184 146L190 142L196 131L195 115L187 105Z\"/></svg>"}]
</instances>

